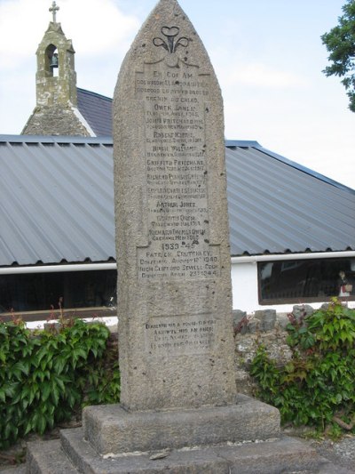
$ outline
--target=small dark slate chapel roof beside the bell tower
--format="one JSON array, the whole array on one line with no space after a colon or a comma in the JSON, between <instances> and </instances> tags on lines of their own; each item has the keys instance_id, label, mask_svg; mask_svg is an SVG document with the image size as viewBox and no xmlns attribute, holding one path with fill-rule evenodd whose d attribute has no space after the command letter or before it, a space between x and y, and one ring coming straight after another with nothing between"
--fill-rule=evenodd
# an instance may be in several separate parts
<instances>
[{"instance_id":1,"label":"small dark slate chapel roof beside the bell tower","mask_svg":"<svg viewBox=\"0 0 355 474\"><path fill-rule=\"evenodd\" d=\"M112 136L112 99L96 92L77 90L77 106L97 137Z\"/></svg>"}]
</instances>

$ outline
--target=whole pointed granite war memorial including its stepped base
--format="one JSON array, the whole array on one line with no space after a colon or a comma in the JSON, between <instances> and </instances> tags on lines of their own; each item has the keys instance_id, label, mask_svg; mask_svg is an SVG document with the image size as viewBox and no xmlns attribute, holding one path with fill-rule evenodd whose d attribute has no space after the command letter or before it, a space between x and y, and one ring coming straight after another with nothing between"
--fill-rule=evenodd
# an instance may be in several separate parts
<instances>
[{"instance_id":1,"label":"whole pointed granite war memorial including its stepped base","mask_svg":"<svg viewBox=\"0 0 355 474\"><path fill-rule=\"evenodd\" d=\"M28 472L313 466L298 442L241 445L278 438L280 414L235 393L222 97L176 0L157 4L122 64L114 190L121 404L86 407L51 454L32 446Z\"/></svg>"}]
</instances>

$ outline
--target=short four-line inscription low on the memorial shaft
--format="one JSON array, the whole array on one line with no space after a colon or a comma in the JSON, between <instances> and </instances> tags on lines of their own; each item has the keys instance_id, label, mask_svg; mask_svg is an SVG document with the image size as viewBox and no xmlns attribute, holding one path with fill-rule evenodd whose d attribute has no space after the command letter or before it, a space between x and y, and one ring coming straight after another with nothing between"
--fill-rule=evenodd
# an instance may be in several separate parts
<instances>
[{"instance_id":1,"label":"short four-line inscription low on the memorial shaft","mask_svg":"<svg viewBox=\"0 0 355 474\"><path fill-rule=\"evenodd\" d=\"M145 325L146 349L152 356L208 353L215 341L216 325L209 314L152 317Z\"/></svg>"}]
</instances>

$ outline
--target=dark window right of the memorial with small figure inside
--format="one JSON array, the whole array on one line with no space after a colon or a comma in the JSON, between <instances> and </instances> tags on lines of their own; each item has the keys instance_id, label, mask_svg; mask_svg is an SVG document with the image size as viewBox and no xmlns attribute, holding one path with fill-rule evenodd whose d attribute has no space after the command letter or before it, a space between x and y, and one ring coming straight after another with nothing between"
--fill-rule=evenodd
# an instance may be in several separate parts
<instances>
[{"instance_id":1,"label":"dark window right of the memorial with small figure inside","mask_svg":"<svg viewBox=\"0 0 355 474\"><path fill-rule=\"evenodd\" d=\"M341 294L341 271L351 290L344 297L355 300L355 259L266 261L257 270L260 304L327 301Z\"/></svg>"}]
</instances>

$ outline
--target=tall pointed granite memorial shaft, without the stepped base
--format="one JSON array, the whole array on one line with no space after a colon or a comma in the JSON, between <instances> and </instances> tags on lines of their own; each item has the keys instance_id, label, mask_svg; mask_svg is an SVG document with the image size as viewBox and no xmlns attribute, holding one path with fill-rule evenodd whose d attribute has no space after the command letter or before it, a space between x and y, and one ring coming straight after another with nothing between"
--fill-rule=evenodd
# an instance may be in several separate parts
<instances>
[{"instance_id":1,"label":"tall pointed granite memorial shaft, without the stepped base","mask_svg":"<svg viewBox=\"0 0 355 474\"><path fill-rule=\"evenodd\" d=\"M161 0L114 92L122 405L233 403L223 104L176 0Z\"/></svg>"}]
</instances>

